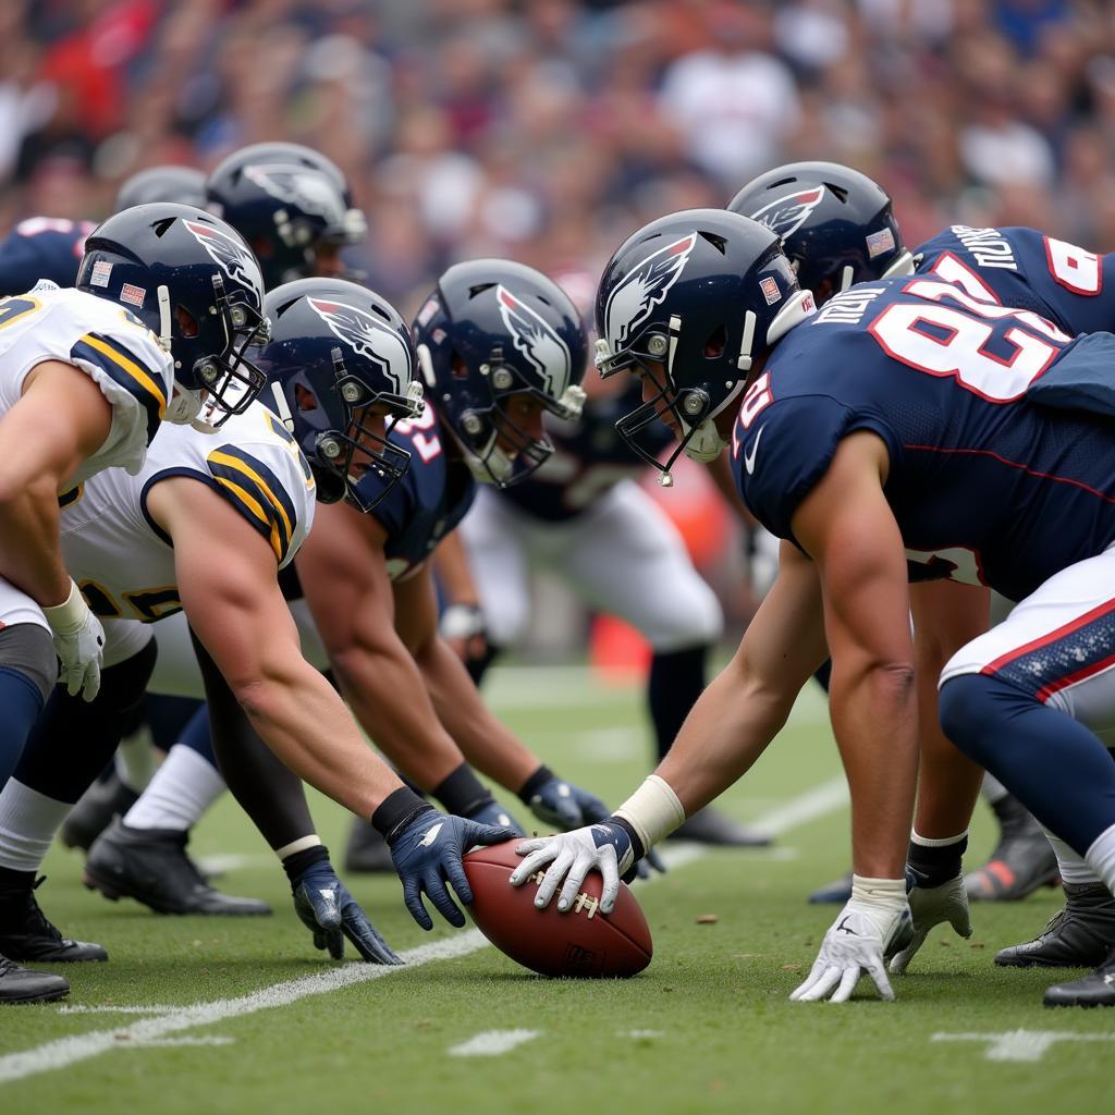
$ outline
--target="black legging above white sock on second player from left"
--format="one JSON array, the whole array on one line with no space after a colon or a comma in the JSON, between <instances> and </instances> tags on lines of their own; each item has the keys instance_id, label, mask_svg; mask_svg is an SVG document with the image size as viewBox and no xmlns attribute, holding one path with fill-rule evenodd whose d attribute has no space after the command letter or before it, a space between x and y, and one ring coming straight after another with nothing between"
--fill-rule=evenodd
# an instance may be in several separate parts
<instances>
[{"instance_id":1,"label":"black legging above white sock on second player from left","mask_svg":"<svg viewBox=\"0 0 1115 1115\"><path fill-rule=\"evenodd\" d=\"M123 727L143 700L157 652L152 639L132 658L107 667L91 701L55 686L28 737L16 777L47 797L76 802L113 757Z\"/></svg>"}]
</instances>

